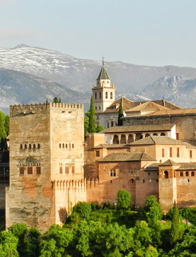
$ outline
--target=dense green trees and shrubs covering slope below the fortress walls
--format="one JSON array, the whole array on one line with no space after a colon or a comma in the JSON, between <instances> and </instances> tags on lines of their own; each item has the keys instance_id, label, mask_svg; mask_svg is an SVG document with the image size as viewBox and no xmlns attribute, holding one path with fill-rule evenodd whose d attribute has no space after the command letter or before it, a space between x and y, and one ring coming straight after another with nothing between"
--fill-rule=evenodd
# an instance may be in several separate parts
<instances>
[{"instance_id":1,"label":"dense green trees and shrubs covering slope below the fortress walls","mask_svg":"<svg viewBox=\"0 0 196 257\"><path fill-rule=\"evenodd\" d=\"M123 195L123 191L119 195ZM171 219L167 220L162 220L166 217L154 196L146 198L144 210L136 212L130 207L127 210L122 208L120 204L115 210L111 203L99 206L93 202L79 202L71 208L72 213L62 227L54 224L43 235L36 228L13 225L8 232L0 232L0 256L195 256L196 227L179 222L175 203L167 215ZM187 210L195 213L194 208ZM186 209L181 209L180 213L186 213ZM175 222L178 236L174 241L172 227Z\"/></svg>"}]
</instances>

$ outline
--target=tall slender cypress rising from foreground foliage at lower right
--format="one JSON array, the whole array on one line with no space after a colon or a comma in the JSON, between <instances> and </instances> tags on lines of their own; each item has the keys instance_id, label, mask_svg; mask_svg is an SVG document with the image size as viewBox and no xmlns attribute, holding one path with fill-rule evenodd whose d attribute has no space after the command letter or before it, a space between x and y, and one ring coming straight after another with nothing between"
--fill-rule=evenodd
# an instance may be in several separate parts
<instances>
[{"instance_id":1,"label":"tall slender cypress rising from foreground foliage at lower right","mask_svg":"<svg viewBox=\"0 0 196 257\"><path fill-rule=\"evenodd\" d=\"M173 216L171 224L171 239L170 244L175 244L176 241L180 238L180 225L179 225L179 213L176 202L174 200L173 204Z\"/></svg>"}]
</instances>

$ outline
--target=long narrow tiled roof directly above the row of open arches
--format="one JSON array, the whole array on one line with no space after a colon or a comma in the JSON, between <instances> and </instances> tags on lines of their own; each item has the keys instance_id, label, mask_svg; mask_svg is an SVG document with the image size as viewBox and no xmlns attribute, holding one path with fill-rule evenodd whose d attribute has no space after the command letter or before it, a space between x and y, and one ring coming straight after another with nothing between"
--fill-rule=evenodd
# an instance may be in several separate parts
<instances>
[{"instance_id":1,"label":"long narrow tiled roof directly above the row of open arches","mask_svg":"<svg viewBox=\"0 0 196 257\"><path fill-rule=\"evenodd\" d=\"M150 124L150 125L132 125L110 127L100 133L117 133L117 132L147 132L147 131L170 131L175 124Z\"/></svg>"}]
</instances>

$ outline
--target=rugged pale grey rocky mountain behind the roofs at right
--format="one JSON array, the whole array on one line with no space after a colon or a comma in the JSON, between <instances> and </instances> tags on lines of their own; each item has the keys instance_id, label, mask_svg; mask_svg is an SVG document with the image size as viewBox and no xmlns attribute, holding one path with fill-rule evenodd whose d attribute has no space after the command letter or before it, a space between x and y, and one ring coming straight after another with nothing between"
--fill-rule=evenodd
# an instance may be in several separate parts
<instances>
[{"instance_id":1,"label":"rugged pale grey rocky mountain behind the roofs at right","mask_svg":"<svg viewBox=\"0 0 196 257\"><path fill-rule=\"evenodd\" d=\"M136 94L151 99L166 99L185 108L196 108L196 79L183 75L164 76L150 83Z\"/></svg>"}]
</instances>

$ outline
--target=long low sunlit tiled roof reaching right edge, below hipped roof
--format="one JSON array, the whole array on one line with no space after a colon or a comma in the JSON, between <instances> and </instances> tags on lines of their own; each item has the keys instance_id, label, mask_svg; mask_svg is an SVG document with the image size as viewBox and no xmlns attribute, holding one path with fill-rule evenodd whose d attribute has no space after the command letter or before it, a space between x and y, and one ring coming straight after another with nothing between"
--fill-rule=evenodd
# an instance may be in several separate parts
<instances>
[{"instance_id":1,"label":"long low sunlit tiled roof reaching right edge, below hipped roof","mask_svg":"<svg viewBox=\"0 0 196 257\"><path fill-rule=\"evenodd\" d=\"M178 109L178 110L159 110L152 113L144 114L142 116L158 116L158 115L185 115L185 114L195 114L196 108L191 109Z\"/></svg>"}]
</instances>

